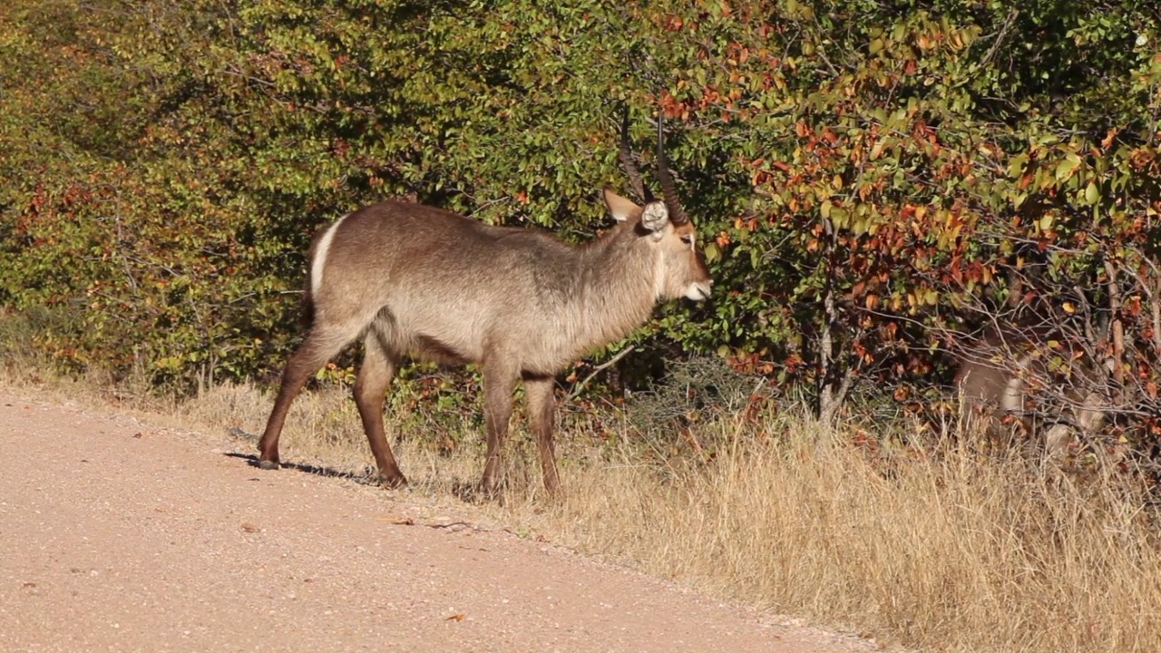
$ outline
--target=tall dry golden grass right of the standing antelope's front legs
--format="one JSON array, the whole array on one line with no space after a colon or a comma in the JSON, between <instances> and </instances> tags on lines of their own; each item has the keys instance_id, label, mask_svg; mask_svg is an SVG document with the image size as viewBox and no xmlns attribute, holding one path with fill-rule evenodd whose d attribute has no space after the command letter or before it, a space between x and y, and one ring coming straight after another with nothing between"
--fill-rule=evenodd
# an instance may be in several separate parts
<instances>
[{"instance_id":1,"label":"tall dry golden grass right of the standing antelope's front legs","mask_svg":"<svg viewBox=\"0 0 1161 653\"><path fill-rule=\"evenodd\" d=\"M966 452L885 474L831 433L780 426L784 439L738 438L679 482L586 472L562 523L652 573L924 648L1161 641L1155 526L1113 483L1080 488Z\"/></svg>"}]
</instances>

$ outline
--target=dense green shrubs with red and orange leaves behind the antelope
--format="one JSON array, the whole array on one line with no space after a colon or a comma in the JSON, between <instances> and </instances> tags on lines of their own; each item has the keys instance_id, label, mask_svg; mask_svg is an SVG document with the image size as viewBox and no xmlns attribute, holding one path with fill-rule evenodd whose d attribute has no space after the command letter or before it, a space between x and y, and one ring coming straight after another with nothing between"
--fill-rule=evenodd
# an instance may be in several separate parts
<instances>
[{"instance_id":1,"label":"dense green shrubs with red and orange leaves behind the antelope","mask_svg":"<svg viewBox=\"0 0 1161 653\"><path fill-rule=\"evenodd\" d=\"M1148 402L1159 21L1142 0L13 0L0 302L79 315L38 333L75 365L265 373L322 224L408 194L585 238L597 189L626 186L625 106L647 164L664 113L722 290L659 313L635 336L655 351L823 408L866 380L906 400L1003 307L1068 318L1065 289L1120 330L1098 337Z\"/></svg>"}]
</instances>

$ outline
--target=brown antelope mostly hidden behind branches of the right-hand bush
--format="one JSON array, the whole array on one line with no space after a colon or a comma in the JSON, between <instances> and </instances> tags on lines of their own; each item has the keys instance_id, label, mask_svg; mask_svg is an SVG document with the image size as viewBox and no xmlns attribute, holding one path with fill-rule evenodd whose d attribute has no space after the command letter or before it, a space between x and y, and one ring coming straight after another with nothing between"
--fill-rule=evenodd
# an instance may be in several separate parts
<instances>
[{"instance_id":1,"label":"brown antelope mostly hidden behind branches of the right-hand bush","mask_svg":"<svg viewBox=\"0 0 1161 653\"><path fill-rule=\"evenodd\" d=\"M1099 366L1068 360L1054 373L1045 343L1046 338L1032 333L1005 337L991 332L967 349L954 387L965 422L982 416L989 433L1010 443L1009 426L1015 424L1005 422L1016 421L1037 438L1043 433L1045 453L1055 457L1077 435L1101 429L1109 402L1102 392ZM1044 406L1030 406L1033 394L1045 400Z\"/></svg>"}]
</instances>

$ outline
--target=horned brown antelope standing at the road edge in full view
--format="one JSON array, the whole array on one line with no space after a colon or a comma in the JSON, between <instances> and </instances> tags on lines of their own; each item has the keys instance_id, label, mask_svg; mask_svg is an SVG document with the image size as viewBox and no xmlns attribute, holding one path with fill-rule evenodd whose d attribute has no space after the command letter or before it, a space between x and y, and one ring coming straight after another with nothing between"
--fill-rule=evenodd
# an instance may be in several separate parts
<instances>
[{"instance_id":1,"label":"horned brown antelope standing at the road edge in full view","mask_svg":"<svg viewBox=\"0 0 1161 653\"><path fill-rule=\"evenodd\" d=\"M403 202L361 208L324 229L310 253L305 299L312 325L282 374L258 443L261 468L279 467L279 433L308 376L361 337L366 353L354 399L384 486L406 483L384 436L383 402L401 361L410 358L482 365L488 453L481 485L489 494L498 485L512 394L522 380L545 486L555 490L555 374L627 336L656 303L705 300L713 284L677 200L661 120L661 201L644 189L626 131L622 124L621 162L646 203L605 188L618 224L589 243Z\"/></svg>"}]
</instances>

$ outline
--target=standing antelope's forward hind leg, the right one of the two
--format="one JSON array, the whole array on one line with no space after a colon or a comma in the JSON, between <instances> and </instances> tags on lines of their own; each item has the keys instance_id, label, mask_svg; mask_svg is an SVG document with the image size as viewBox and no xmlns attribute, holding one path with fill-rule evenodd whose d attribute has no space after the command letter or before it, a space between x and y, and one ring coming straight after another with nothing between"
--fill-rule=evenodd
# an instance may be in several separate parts
<instances>
[{"instance_id":1,"label":"standing antelope's forward hind leg, the right one of the two","mask_svg":"<svg viewBox=\"0 0 1161 653\"><path fill-rule=\"evenodd\" d=\"M355 406L359 407L363 432L367 433L375 464L378 465L380 482L388 488L401 488L408 485L408 479L399 471L383 428L384 394L395 378L398 358L388 347L385 335L377 325L367 331L363 349L366 353L362 367L355 380Z\"/></svg>"}]
</instances>

